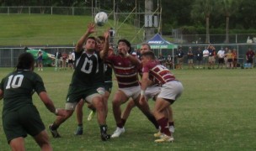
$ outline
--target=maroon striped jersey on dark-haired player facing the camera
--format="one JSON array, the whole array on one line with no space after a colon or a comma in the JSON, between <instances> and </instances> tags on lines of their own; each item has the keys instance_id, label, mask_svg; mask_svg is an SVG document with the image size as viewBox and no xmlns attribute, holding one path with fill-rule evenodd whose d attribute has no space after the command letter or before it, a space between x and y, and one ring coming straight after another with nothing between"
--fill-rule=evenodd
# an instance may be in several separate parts
<instances>
[{"instance_id":1,"label":"maroon striped jersey on dark-haired player facing the camera","mask_svg":"<svg viewBox=\"0 0 256 151\"><path fill-rule=\"evenodd\" d=\"M139 86L138 69L131 63L131 60L120 55L110 55L106 61L112 65L120 88Z\"/></svg>"}]
</instances>

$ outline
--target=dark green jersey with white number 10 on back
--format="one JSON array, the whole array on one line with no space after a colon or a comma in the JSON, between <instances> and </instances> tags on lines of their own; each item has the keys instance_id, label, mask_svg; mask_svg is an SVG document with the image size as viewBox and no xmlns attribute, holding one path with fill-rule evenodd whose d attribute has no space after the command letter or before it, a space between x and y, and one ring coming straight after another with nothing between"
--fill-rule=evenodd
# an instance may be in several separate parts
<instances>
[{"instance_id":1,"label":"dark green jersey with white number 10 on back","mask_svg":"<svg viewBox=\"0 0 256 151\"><path fill-rule=\"evenodd\" d=\"M3 115L13 112L27 104L33 104L32 96L45 91L41 77L31 70L13 71L3 78L0 84L3 90Z\"/></svg>"}]
</instances>

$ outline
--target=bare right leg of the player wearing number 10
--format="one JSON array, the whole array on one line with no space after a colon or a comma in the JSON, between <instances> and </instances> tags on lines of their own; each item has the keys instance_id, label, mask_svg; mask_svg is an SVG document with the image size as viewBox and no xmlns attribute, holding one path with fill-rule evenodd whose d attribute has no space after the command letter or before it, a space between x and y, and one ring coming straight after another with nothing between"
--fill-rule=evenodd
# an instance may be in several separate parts
<instances>
[{"instance_id":1,"label":"bare right leg of the player wearing number 10","mask_svg":"<svg viewBox=\"0 0 256 151\"><path fill-rule=\"evenodd\" d=\"M35 139L35 142L40 146L41 150L45 151L51 151L51 143L49 142L49 137L46 133L46 131L40 132L38 135L33 137Z\"/></svg>"}]
</instances>

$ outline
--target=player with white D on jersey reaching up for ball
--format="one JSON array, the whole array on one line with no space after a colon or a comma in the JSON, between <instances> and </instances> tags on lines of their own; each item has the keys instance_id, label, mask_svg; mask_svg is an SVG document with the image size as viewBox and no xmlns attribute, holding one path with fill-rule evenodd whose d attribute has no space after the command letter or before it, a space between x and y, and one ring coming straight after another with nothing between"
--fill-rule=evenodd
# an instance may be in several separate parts
<instances>
[{"instance_id":1,"label":"player with white D on jersey reaching up for ball","mask_svg":"<svg viewBox=\"0 0 256 151\"><path fill-rule=\"evenodd\" d=\"M77 103L83 99L93 104L93 107L96 108L101 139L103 141L109 139L106 125L106 107L104 107L103 97L97 91L104 84L104 78L97 75L100 72L99 65L103 65L104 57L108 54L109 44L105 44L103 51L95 51L96 40L94 37L89 37L90 34L95 32L94 27L95 24L89 23L87 32L77 42L75 49L76 67L72 75L66 100L66 112L68 116L57 117L55 122L49 126L54 138L60 138L57 128L59 128L62 122L65 122L67 118L72 116ZM104 37L106 41L109 41L109 31L104 33Z\"/></svg>"}]
</instances>

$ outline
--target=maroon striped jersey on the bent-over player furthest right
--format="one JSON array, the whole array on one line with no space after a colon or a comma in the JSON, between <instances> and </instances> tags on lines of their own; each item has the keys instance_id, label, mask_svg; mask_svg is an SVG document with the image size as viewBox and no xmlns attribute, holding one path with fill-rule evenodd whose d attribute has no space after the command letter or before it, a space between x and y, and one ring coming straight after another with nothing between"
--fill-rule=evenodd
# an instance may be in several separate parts
<instances>
[{"instance_id":1,"label":"maroon striped jersey on the bent-over player furthest right","mask_svg":"<svg viewBox=\"0 0 256 151\"><path fill-rule=\"evenodd\" d=\"M152 60L143 66L143 73L148 72L149 76L154 77L154 81L157 84L163 85L168 81L177 81L165 66L160 65L159 61Z\"/></svg>"}]
</instances>

